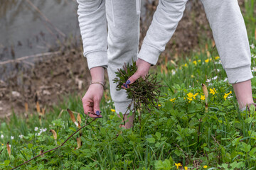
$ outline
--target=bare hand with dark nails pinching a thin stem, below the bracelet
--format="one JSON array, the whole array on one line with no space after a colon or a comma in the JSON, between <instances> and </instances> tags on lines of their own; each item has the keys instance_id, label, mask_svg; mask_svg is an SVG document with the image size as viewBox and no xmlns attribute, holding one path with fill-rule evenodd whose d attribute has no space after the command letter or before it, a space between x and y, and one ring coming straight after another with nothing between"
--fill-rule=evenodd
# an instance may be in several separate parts
<instances>
[{"instance_id":1,"label":"bare hand with dark nails pinching a thin stem, below the bracelet","mask_svg":"<svg viewBox=\"0 0 256 170\"><path fill-rule=\"evenodd\" d=\"M90 118L102 118L100 114L100 101L103 96L104 88L101 84L91 84L82 98L84 113ZM97 115L99 113L100 115Z\"/></svg>"}]
</instances>

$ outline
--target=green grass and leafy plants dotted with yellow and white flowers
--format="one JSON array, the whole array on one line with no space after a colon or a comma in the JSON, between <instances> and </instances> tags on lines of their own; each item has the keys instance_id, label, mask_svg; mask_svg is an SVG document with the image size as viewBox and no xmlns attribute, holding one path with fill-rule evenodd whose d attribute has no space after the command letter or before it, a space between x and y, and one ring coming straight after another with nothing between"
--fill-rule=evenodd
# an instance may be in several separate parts
<instances>
[{"instance_id":1,"label":"green grass and leafy plants dotted with yellow and white flowers","mask_svg":"<svg viewBox=\"0 0 256 170\"><path fill-rule=\"evenodd\" d=\"M250 43L255 44L255 40L250 38ZM256 48L251 50L255 55ZM255 62L252 58L252 67ZM176 169L178 163L188 169L256 169L256 114L239 111L233 88L224 81L226 75L219 63L215 50L201 49L177 64L168 62L157 67L158 79L165 85L159 98L160 110L154 109L154 114L142 111L141 122L122 135L117 136L121 120L112 111L113 103L106 94L101 103L103 118L82 130L80 149L75 149L75 135L63 147L19 169ZM202 83L209 92L215 89L209 94L208 112L202 100ZM252 90L256 94L255 78ZM223 96L230 91L225 100ZM189 97L189 93L195 97ZM67 111L60 115L66 108L83 113L80 98L74 95L52 110L46 109L41 121L38 113L28 113L28 118L13 114L8 123L2 120L0 169L14 168L42 149L57 147L77 130ZM46 132L38 135L43 128ZM51 129L58 134L56 142ZM10 157L7 142L11 145Z\"/></svg>"}]
</instances>

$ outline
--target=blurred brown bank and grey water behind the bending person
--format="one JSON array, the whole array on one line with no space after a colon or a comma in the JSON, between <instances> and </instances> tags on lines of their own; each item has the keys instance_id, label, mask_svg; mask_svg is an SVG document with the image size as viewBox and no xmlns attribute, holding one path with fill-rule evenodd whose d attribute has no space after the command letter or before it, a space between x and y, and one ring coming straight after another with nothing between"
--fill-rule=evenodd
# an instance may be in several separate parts
<instances>
[{"instance_id":1,"label":"blurred brown bank and grey water behind the bending person","mask_svg":"<svg viewBox=\"0 0 256 170\"><path fill-rule=\"evenodd\" d=\"M255 1L239 0L247 33L255 35ZM90 81L82 56L75 0L0 0L0 117L35 102L50 107L82 96ZM140 45L158 1L142 0ZM190 0L158 64L178 62L214 43L201 1ZM107 78L106 78L107 79Z\"/></svg>"}]
</instances>

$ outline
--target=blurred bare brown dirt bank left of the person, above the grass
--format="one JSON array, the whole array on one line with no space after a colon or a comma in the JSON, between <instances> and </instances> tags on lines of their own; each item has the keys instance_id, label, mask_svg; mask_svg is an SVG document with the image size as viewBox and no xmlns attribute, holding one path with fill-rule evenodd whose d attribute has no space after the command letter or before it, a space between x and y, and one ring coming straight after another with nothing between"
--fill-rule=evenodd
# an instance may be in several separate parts
<instances>
[{"instance_id":1,"label":"blurred bare brown dirt bank left of the person, above the grass","mask_svg":"<svg viewBox=\"0 0 256 170\"><path fill-rule=\"evenodd\" d=\"M71 50L43 58L35 67L0 81L0 118L11 111L24 112L25 103L31 110L36 108L36 100L45 107L60 102L65 94L83 94L88 82L90 72L82 52Z\"/></svg>"}]
</instances>

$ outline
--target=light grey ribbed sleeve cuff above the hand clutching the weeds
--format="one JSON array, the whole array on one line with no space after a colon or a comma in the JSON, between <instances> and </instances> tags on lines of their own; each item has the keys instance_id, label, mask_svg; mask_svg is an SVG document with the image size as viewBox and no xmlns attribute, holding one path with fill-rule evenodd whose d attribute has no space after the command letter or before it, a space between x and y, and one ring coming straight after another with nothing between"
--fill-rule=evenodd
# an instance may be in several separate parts
<instances>
[{"instance_id":1,"label":"light grey ribbed sleeve cuff above the hand clutching the weeds","mask_svg":"<svg viewBox=\"0 0 256 170\"><path fill-rule=\"evenodd\" d=\"M157 60L159 59L160 54L161 50L158 50L156 49L156 47L143 43L142 48L139 51L138 58L155 65Z\"/></svg>"}]
</instances>

